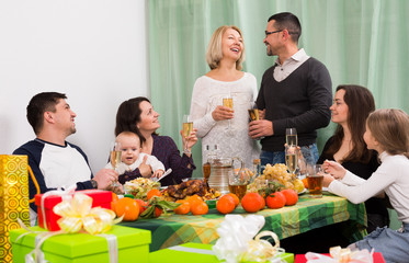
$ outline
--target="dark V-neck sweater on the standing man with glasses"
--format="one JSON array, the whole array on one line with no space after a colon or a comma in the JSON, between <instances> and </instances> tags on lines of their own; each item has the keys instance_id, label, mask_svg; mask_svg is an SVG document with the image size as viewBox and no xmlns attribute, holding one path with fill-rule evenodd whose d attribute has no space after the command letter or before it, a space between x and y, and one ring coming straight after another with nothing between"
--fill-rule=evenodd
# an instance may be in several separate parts
<instances>
[{"instance_id":1,"label":"dark V-neck sweater on the standing man with glasses","mask_svg":"<svg viewBox=\"0 0 409 263\"><path fill-rule=\"evenodd\" d=\"M274 79L274 68L264 72L257 99L274 130L261 140L262 149L283 151L286 128L297 129L299 146L316 142L316 129L326 127L331 118L332 83L326 66L310 57L281 82Z\"/></svg>"}]
</instances>

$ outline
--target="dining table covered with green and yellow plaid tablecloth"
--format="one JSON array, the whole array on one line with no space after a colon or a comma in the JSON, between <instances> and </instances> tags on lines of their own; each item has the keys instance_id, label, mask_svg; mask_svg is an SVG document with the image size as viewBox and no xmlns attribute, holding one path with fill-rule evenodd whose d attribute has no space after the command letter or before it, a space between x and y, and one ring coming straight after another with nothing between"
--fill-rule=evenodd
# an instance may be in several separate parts
<instances>
[{"instance_id":1,"label":"dining table covered with green and yellow plaid tablecloth","mask_svg":"<svg viewBox=\"0 0 409 263\"><path fill-rule=\"evenodd\" d=\"M241 206L232 214L247 215ZM349 222L351 241L361 240L366 235L365 205L354 205L329 193L325 193L322 198L309 198L308 194L303 194L295 206L264 209L257 215L265 217L262 230L274 231L280 239L341 221ZM208 214L203 216L171 214L168 217L138 219L120 225L150 230L152 252L185 242L214 244L218 239L216 230L223 220L224 215L216 209L209 209Z\"/></svg>"}]
</instances>

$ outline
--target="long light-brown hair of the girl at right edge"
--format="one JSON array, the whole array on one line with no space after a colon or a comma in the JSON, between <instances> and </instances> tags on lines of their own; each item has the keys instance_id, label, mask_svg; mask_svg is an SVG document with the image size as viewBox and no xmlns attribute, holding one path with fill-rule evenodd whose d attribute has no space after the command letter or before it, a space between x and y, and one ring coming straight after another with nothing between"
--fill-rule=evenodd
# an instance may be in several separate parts
<instances>
[{"instance_id":1,"label":"long light-brown hair of the girl at right edge","mask_svg":"<svg viewBox=\"0 0 409 263\"><path fill-rule=\"evenodd\" d=\"M382 108L366 121L372 136L389 155L404 155L409 159L409 116L401 110Z\"/></svg>"}]
</instances>

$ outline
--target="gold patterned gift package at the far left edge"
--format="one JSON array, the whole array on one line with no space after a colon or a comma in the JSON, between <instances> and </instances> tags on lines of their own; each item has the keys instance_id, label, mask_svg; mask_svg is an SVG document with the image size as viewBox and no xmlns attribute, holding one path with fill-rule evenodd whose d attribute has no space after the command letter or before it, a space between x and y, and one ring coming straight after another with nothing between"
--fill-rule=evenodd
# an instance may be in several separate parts
<instances>
[{"instance_id":1,"label":"gold patterned gift package at the far left edge","mask_svg":"<svg viewBox=\"0 0 409 263\"><path fill-rule=\"evenodd\" d=\"M0 155L0 262L11 262L9 230L30 225L26 156Z\"/></svg>"}]
</instances>

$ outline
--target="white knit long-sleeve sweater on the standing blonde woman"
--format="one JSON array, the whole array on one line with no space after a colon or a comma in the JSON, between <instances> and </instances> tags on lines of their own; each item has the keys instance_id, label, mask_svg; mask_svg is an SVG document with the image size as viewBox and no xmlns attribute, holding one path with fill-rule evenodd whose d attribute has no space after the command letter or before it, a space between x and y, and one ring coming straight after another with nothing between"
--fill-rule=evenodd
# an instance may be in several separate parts
<instances>
[{"instance_id":1,"label":"white knit long-sleeve sweater on the standing blonde woman","mask_svg":"<svg viewBox=\"0 0 409 263\"><path fill-rule=\"evenodd\" d=\"M236 81L219 81L207 76L200 77L194 83L190 116L193 127L197 128L197 137L202 138L202 159L206 162L206 145L218 146L218 156L239 157L251 168L253 159L259 158L260 146L249 137L249 113L251 102L257 99L257 81L251 73L245 72ZM223 105L223 98L231 95L235 117L216 122L212 112L217 105Z\"/></svg>"}]
</instances>

